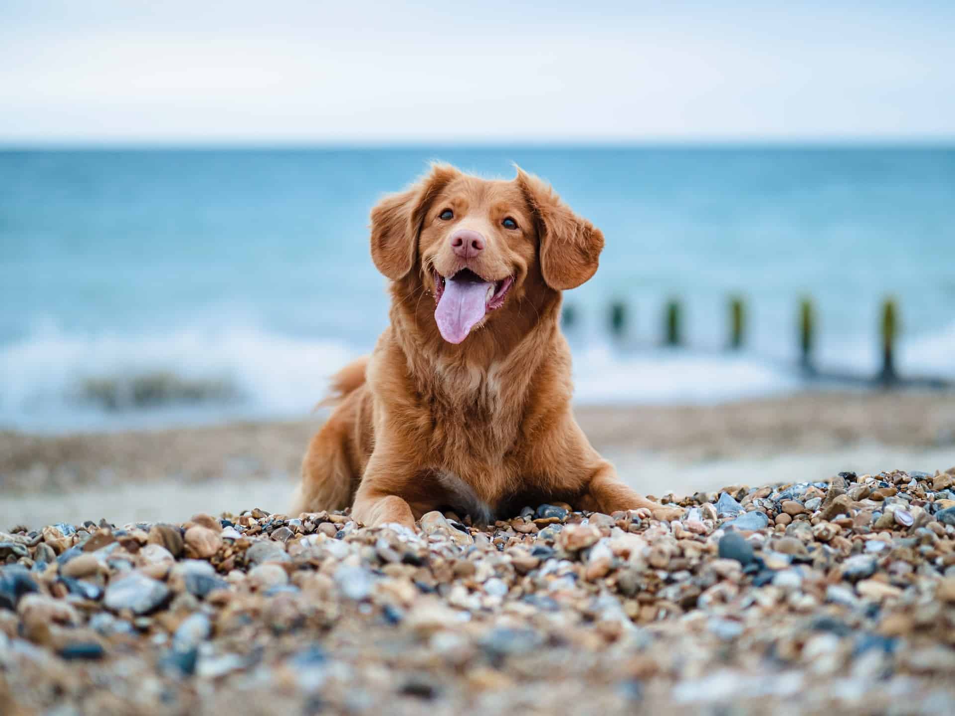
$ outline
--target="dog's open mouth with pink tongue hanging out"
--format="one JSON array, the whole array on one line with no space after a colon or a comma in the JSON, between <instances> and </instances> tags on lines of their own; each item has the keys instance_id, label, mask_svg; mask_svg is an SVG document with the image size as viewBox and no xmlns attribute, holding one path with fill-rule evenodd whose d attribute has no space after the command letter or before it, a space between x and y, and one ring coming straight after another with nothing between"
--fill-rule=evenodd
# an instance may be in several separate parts
<instances>
[{"instance_id":1,"label":"dog's open mouth with pink tongue hanging out","mask_svg":"<svg viewBox=\"0 0 955 716\"><path fill-rule=\"evenodd\" d=\"M435 279L435 323L448 343L460 343L484 316L504 305L514 277L488 281L470 268L462 268L452 276L441 276L432 269Z\"/></svg>"}]
</instances>

